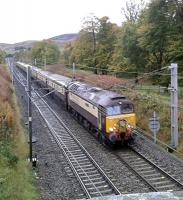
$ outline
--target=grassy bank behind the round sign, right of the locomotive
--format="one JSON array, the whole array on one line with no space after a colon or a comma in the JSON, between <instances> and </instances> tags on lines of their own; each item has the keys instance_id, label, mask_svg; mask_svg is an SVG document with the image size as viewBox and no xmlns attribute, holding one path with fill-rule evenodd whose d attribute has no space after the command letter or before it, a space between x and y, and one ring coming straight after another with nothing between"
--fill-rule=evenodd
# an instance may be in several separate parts
<instances>
[{"instance_id":1,"label":"grassy bank behind the round sign, right of the locomotive","mask_svg":"<svg viewBox=\"0 0 183 200\"><path fill-rule=\"evenodd\" d=\"M157 133L157 138L166 143L171 142L171 116L170 116L170 94L159 93L153 90L155 87L146 90L149 86L143 86L144 90L131 90L124 93L130 97L135 104L136 114L138 118L137 125L151 135L148 124L149 118L152 117L155 111L160 121L160 130ZM154 88L153 88L154 87ZM153 89L152 89L153 88ZM182 105L182 100L179 99L179 106ZM183 110L178 110L178 116L183 116ZM179 121L179 146L177 150L183 153L183 121Z\"/></svg>"}]
</instances>

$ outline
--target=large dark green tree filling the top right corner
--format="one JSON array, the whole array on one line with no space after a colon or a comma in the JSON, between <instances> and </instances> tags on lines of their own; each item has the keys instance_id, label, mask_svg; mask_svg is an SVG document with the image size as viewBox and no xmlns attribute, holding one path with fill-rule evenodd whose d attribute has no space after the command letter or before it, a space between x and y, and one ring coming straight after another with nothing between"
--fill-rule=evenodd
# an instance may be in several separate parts
<instances>
[{"instance_id":1,"label":"large dark green tree filling the top right corner","mask_svg":"<svg viewBox=\"0 0 183 200\"><path fill-rule=\"evenodd\" d=\"M178 0L153 0L141 16L138 41L140 47L147 52L149 71L161 69L170 62L181 63L183 60L182 5L183 2ZM155 79L159 83L169 82L169 78L162 76L156 76Z\"/></svg>"}]
</instances>

